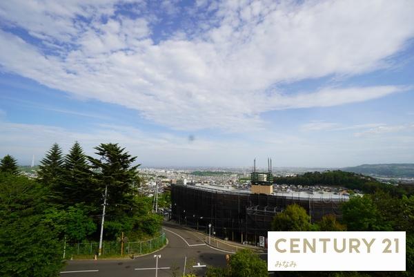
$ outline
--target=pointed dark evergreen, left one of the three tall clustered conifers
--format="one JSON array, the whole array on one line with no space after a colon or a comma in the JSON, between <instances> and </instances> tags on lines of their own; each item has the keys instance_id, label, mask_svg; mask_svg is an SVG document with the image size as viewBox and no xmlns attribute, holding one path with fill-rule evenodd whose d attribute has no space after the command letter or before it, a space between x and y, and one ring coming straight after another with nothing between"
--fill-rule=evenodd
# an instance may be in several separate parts
<instances>
[{"instance_id":1,"label":"pointed dark evergreen, left one of the three tall clustered conifers","mask_svg":"<svg viewBox=\"0 0 414 277\"><path fill-rule=\"evenodd\" d=\"M52 145L40 164L37 171L39 180L48 186L57 184L63 172L63 156L59 144Z\"/></svg>"}]
</instances>

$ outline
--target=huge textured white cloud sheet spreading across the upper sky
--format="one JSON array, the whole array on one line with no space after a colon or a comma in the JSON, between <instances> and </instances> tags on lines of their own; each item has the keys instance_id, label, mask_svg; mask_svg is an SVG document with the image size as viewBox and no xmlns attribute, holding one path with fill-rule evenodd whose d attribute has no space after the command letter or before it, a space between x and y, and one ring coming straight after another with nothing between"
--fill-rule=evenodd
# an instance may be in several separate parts
<instances>
[{"instance_id":1,"label":"huge textured white cloud sheet spreading across the upper sky","mask_svg":"<svg viewBox=\"0 0 414 277\"><path fill-rule=\"evenodd\" d=\"M322 88L293 95L277 84L384 68L414 36L411 1L199 2L215 15L204 19L201 13L199 25L157 44L150 37L156 17L132 20L117 14L115 3L1 1L3 23L43 41L30 44L0 31L1 66L186 130L260 128L266 111L362 102L404 90ZM105 23L103 15L109 16Z\"/></svg>"}]
</instances>

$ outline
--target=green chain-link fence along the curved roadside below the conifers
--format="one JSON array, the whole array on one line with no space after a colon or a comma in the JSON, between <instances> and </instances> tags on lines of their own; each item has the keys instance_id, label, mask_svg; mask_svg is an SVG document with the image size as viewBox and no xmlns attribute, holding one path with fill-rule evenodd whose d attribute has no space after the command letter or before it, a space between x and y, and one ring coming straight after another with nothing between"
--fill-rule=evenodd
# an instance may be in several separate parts
<instances>
[{"instance_id":1,"label":"green chain-link fence along the curved roadside below the conifers","mask_svg":"<svg viewBox=\"0 0 414 277\"><path fill-rule=\"evenodd\" d=\"M138 242L121 242L111 241L102 242L102 255L116 256L121 255L121 248L124 255L141 255L155 251L164 245L166 245L166 234L162 233L157 238L150 240L142 240ZM99 242L87 242L87 243L74 243L66 244L65 258L71 258L73 256L90 256L98 253Z\"/></svg>"}]
</instances>

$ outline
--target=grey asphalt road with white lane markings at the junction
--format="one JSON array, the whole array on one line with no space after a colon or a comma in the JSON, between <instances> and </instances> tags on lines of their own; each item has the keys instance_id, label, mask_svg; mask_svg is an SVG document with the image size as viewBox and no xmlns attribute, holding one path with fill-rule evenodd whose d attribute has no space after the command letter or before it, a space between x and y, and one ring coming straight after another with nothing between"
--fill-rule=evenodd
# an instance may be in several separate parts
<instances>
[{"instance_id":1,"label":"grey asphalt road with white lane markings at the junction","mask_svg":"<svg viewBox=\"0 0 414 277\"><path fill-rule=\"evenodd\" d=\"M177 225L164 225L168 245L154 254L161 255L158 260L159 277L172 274L172 267L177 267L177 276L183 274L184 262L193 260L195 264L208 266L226 265L226 251L213 249L197 237L197 233L182 229ZM155 276L154 254L142 256L135 260L72 260L61 272L62 277L129 277ZM195 273L203 276L206 267L195 267ZM187 272L187 271L186 271Z\"/></svg>"}]
</instances>

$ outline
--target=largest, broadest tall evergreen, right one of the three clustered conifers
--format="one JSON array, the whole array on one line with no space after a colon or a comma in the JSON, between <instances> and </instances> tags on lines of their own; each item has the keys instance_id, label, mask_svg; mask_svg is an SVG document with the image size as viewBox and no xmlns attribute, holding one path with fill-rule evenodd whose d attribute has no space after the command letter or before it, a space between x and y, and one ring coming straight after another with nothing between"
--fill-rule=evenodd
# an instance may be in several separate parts
<instances>
[{"instance_id":1,"label":"largest, broadest tall evergreen, right one of the three clustered conifers","mask_svg":"<svg viewBox=\"0 0 414 277\"><path fill-rule=\"evenodd\" d=\"M137 167L132 166L137 157L132 157L125 148L118 144L100 144L95 147L100 158L89 157L95 169L95 178L99 180L101 191L108 186L108 211L130 210L132 201L132 184L137 180Z\"/></svg>"}]
</instances>

